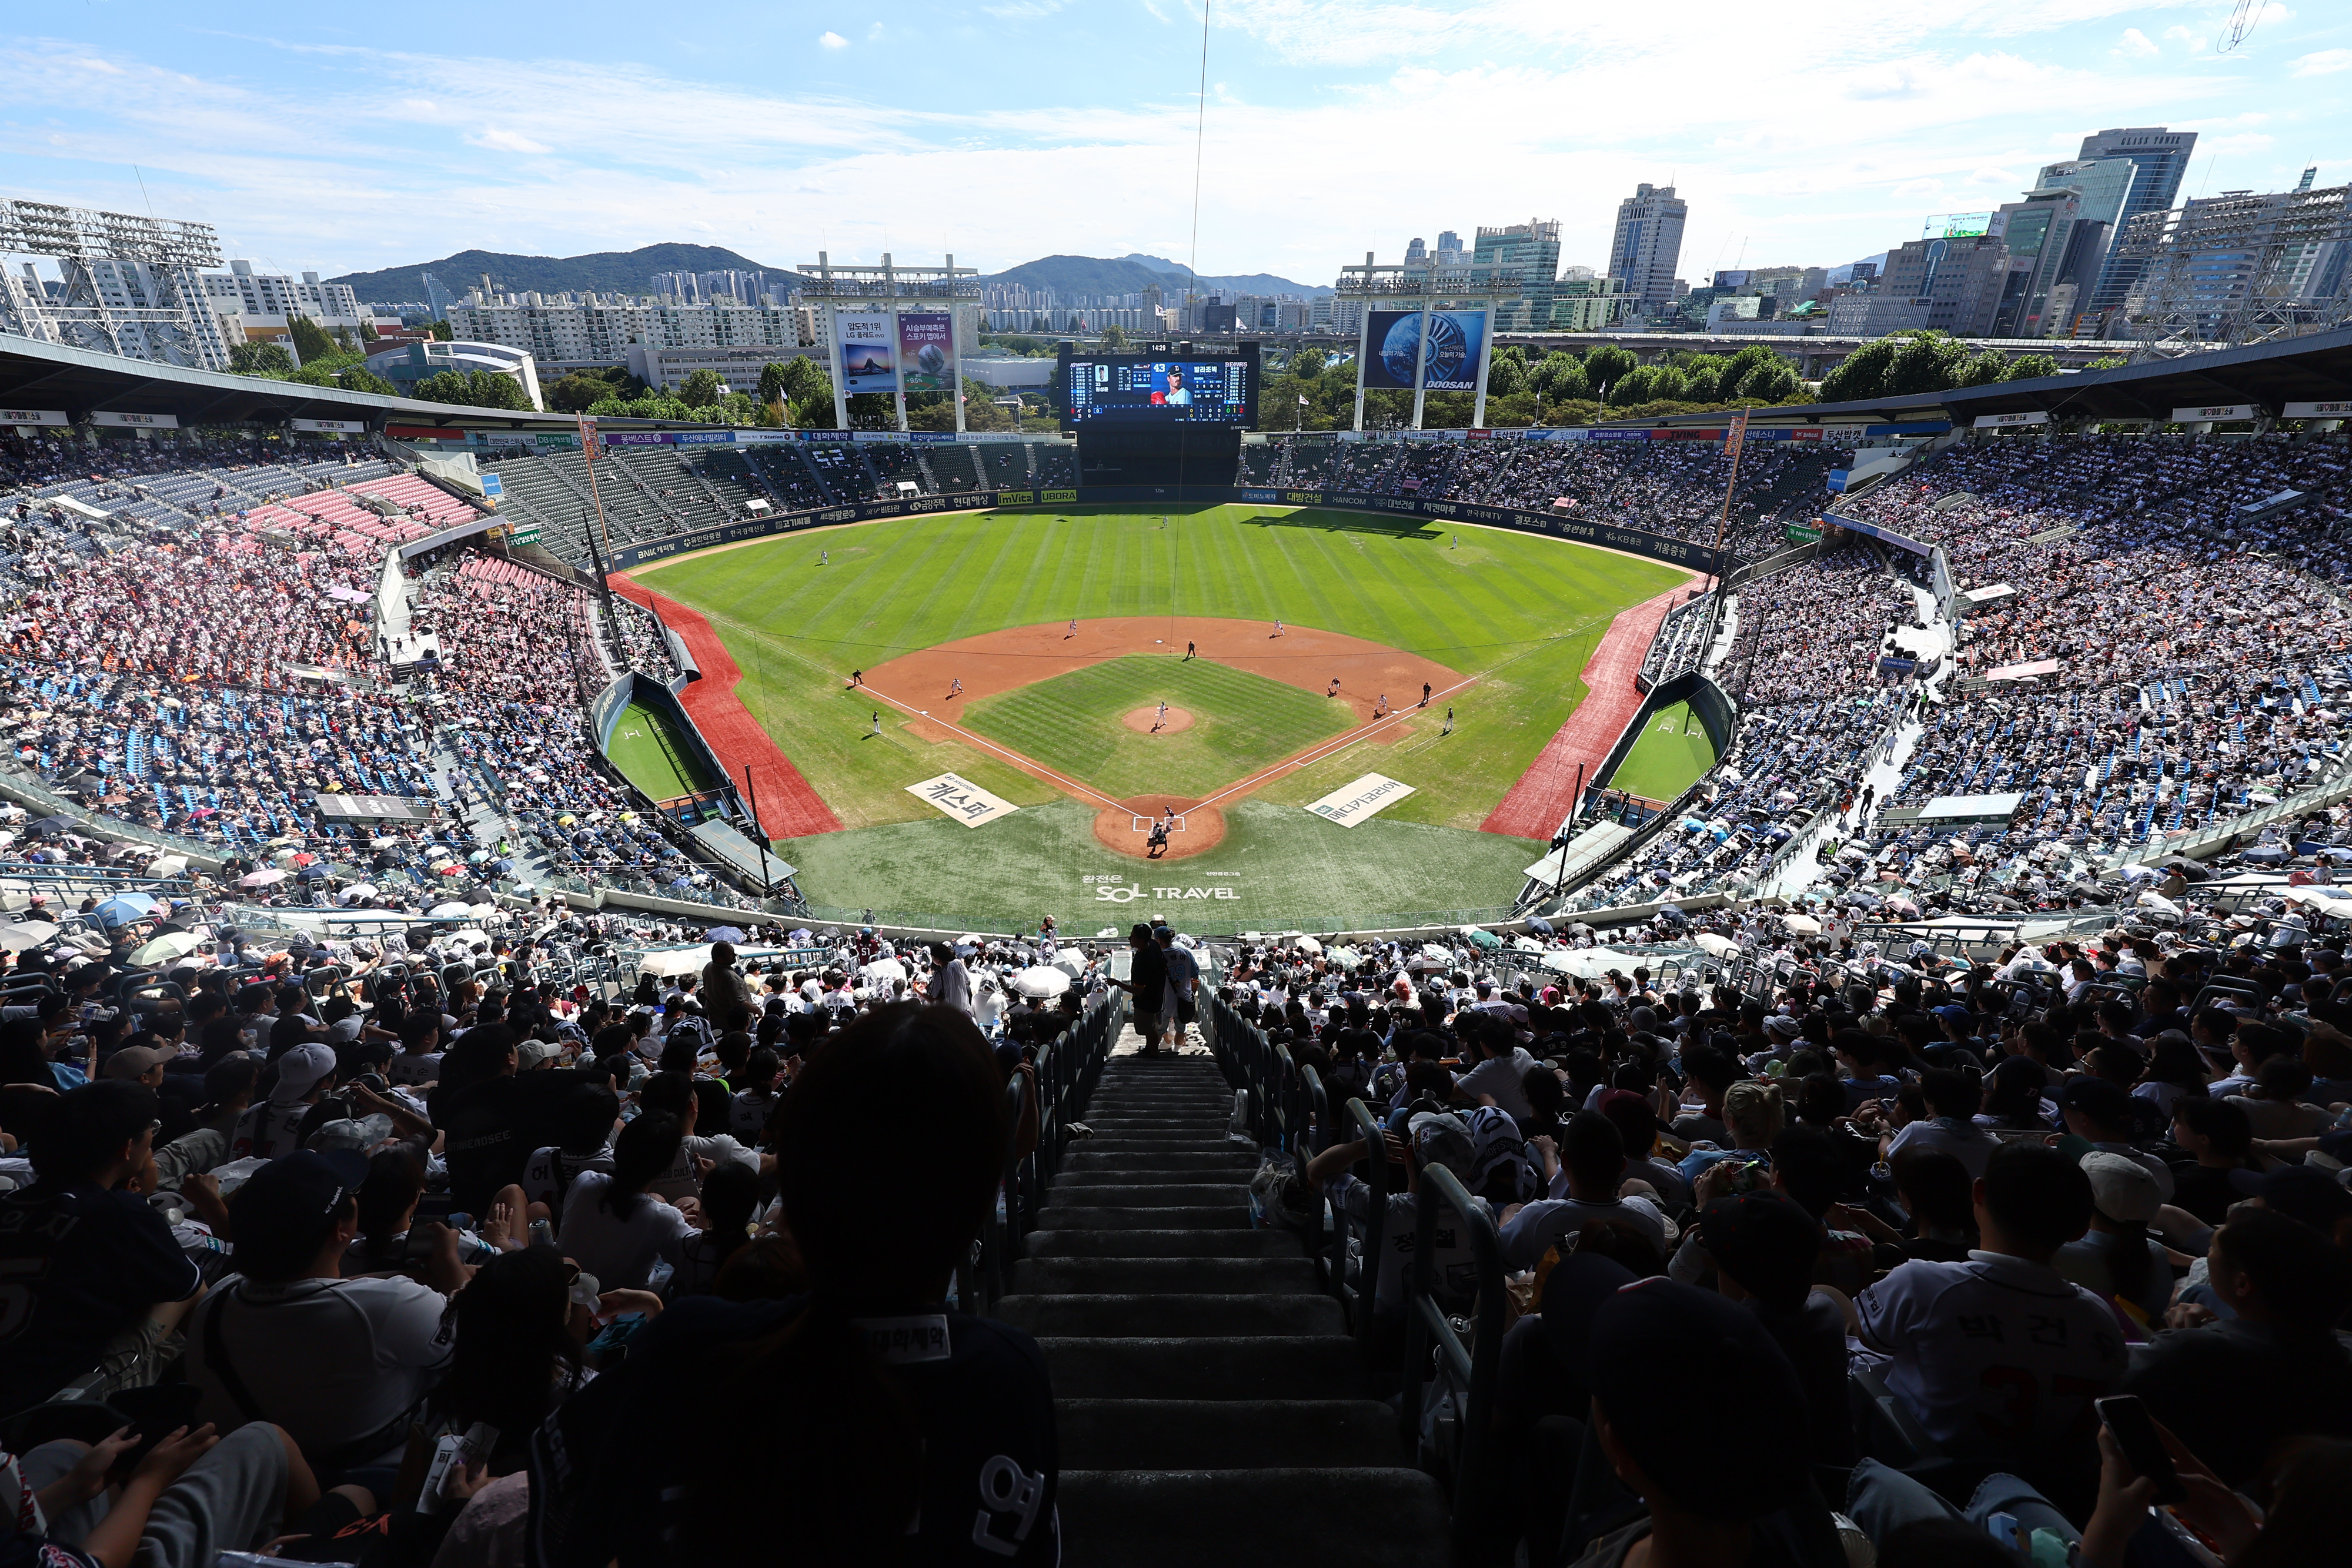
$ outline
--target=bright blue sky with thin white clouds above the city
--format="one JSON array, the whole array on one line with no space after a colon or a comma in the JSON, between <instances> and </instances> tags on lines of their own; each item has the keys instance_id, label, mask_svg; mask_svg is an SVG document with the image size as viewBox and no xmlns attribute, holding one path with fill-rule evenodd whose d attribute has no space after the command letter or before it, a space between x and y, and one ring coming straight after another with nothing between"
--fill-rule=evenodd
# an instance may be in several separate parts
<instances>
[{"instance_id":1,"label":"bright blue sky with thin white clouds above the city","mask_svg":"<svg viewBox=\"0 0 2352 1568\"><path fill-rule=\"evenodd\" d=\"M2352 5L2249 5L2225 49L2232 5L2192 2L1218 0L1197 263L1329 282L1538 216L1597 266L1646 179L1691 202L1693 282L1835 266L2107 125L2201 132L2190 193L2352 181ZM0 21L0 195L322 273L656 240L1183 261L1200 47L1200 0L66 0Z\"/></svg>"}]
</instances>

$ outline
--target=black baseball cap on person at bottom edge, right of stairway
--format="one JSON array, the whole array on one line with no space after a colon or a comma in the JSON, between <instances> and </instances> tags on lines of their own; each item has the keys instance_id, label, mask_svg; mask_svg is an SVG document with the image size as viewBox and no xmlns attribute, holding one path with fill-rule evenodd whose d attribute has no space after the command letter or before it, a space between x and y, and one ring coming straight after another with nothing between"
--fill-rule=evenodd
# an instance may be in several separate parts
<instances>
[{"instance_id":1,"label":"black baseball cap on person at bottom edge, right of stairway","mask_svg":"<svg viewBox=\"0 0 2352 1568\"><path fill-rule=\"evenodd\" d=\"M1642 1279L1592 1312L1585 1387L1642 1474L1684 1514L1717 1523L1762 1519L1809 1476L1806 1399L1788 1352L1755 1312L1672 1279ZM1724 1465L1693 1441L1691 1410L1780 1410L1788 1439L1755 1443Z\"/></svg>"}]
</instances>

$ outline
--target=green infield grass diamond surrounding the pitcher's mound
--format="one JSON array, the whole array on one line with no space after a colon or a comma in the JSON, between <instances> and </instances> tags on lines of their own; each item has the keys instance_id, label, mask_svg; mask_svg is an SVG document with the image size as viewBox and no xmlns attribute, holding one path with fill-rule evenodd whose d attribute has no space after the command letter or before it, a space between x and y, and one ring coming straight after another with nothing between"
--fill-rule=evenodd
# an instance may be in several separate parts
<instances>
[{"instance_id":1,"label":"green infield grass diamond surrounding the pitcher's mound","mask_svg":"<svg viewBox=\"0 0 2352 1568\"><path fill-rule=\"evenodd\" d=\"M1124 724L1157 703L1185 710L1192 726L1152 736ZM1207 658L1112 658L983 698L964 715L964 729L1112 799L1207 797L1350 724L1355 715L1338 703Z\"/></svg>"}]
</instances>

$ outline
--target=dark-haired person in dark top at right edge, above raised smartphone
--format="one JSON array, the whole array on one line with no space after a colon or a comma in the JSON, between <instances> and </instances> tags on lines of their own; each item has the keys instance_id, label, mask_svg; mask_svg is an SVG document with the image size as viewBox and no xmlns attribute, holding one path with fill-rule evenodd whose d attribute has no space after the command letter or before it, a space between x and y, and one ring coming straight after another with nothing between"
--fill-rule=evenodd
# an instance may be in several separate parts
<instances>
[{"instance_id":1,"label":"dark-haired person in dark top at right edge, above raised smartphone","mask_svg":"<svg viewBox=\"0 0 2352 1568\"><path fill-rule=\"evenodd\" d=\"M2352 1436L2352 1359L2333 1333L2352 1307L2343 1248L2249 1206L2213 1232L2206 1267L2232 1316L2159 1333L2133 1352L2124 1392L2230 1486L2272 1472L2288 1439Z\"/></svg>"}]
</instances>

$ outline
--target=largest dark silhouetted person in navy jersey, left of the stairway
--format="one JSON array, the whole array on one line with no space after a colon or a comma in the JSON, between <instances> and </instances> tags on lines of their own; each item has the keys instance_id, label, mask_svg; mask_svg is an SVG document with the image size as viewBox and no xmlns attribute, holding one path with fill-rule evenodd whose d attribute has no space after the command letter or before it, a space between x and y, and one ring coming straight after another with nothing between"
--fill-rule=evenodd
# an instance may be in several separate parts
<instances>
[{"instance_id":1,"label":"largest dark silhouetted person in navy jersey, left of the stairway","mask_svg":"<svg viewBox=\"0 0 2352 1568\"><path fill-rule=\"evenodd\" d=\"M875 1157L877 1107L922 1159ZM875 1009L811 1058L776 1138L811 1295L680 1300L567 1401L532 1443L536 1568L1058 1563L1044 1356L943 1305L1004 1143L957 1009Z\"/></svg>"}]
</instances>

